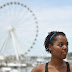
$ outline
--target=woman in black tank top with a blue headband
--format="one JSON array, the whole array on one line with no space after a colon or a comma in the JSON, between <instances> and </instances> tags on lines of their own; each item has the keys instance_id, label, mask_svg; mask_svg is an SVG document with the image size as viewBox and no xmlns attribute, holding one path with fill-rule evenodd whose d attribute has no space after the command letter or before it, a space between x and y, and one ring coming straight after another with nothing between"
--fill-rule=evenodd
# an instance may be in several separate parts
<instances>
[{"instance_id":1,"label":"woman in black tank top with a blue headband","mask_svg":"<svg viewBox=\"0 0 72 72\"><path fill-rule=\"evenodd\" d=\"M50 32L44 45L51 53L51 60L36 66L31 72L72 72L72 63L63 60L68 52L68 40L63 32Z\"/></svg>"}]
</instances>

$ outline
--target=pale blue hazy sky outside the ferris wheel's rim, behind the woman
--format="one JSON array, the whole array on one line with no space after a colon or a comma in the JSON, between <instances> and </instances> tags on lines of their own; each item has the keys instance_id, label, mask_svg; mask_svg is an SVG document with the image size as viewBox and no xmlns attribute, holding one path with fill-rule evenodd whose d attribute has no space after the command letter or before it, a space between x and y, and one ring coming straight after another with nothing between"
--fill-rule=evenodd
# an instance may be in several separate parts
<instances>
[{"instance_id":1,"label":"pale blue hazy sky outside the ferris wheel's rim, behind the woman","mask_svg":"<svg viewBox=\"0 0 72 72\"><path fill-rule=\"evenodd\" d=\"M9 1L11 0L0 0L0 3L2 4ZM37 20L39 22L38 38L36 44L34 45L33 49L31 49L31 51L28 53L28 55L49 56L49 54L45 51L43 44L44 44L44 39L47 36L48 32L53 30L63 31L66 33L69 41L69 52L72 52L72 31L71 31L72 0L59 0L59 1L58 0L12 0L12 1L17 1L17 2L19 1L29 6L29 8L31 8L32 11L35 13ZM26 36L25 38L28 39L29 36ZM25 40L26 46L31 41L31 39L32 37L30 37L30 40L28 42L26 42Z\"/></svg>"}]
</instances>

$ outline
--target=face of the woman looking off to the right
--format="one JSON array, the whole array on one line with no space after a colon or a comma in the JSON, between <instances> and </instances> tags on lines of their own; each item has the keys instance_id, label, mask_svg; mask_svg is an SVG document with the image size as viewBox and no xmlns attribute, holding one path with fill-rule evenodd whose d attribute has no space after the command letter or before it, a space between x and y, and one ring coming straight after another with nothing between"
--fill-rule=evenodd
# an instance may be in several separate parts
<instances>
[{"instance_id":1,"label":"face of the woman looking off to the right","mask_svg":"<svg viewBox=\"0 0 72 72\"><path fill-rule=\"evenodd\" d=\"M56 36L56 41L54 41L51 46L51 54L53 57L65 59L68 52L68 41L65 36Z\"/></svg>"}]
</instances>

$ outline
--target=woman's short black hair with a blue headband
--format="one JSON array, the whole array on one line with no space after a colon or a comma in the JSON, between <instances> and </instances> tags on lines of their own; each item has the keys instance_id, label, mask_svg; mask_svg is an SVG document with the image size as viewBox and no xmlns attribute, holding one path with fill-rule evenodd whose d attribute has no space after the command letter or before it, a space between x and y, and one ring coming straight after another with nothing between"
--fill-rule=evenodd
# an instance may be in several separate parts
<instances>
[{"instance_id":1,"label":"woman's short black hair with a blue headband","mask_svg":"<svg viewBox=\"0 0 72 72\"><path fill-rule=\"evenodd\" d=\"M65 36L65 33L64 32L59 32L59 31L51 31L48 33L47 37L45 38L45 42L44 42L44 45L45 45L45 49L47 52L50 52L51 51L49 50L49 44L53 45L53 42L56 41L56 36L58 35L62 35L62 36Z\"/></svg>"}]
</instances>

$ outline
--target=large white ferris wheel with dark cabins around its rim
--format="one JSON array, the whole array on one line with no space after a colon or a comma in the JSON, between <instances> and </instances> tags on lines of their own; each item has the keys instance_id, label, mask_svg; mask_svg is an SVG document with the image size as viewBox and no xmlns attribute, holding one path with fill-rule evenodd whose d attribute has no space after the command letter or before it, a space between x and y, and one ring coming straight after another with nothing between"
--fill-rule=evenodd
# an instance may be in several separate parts
<instances>
[{"instance_id":1,"label":"large white ferris wheel with dark cabins around its rim","mask_svg":"<svg viewBox=\"0 0 72 72\"><path fill-rule=\"evenodd\" d=\"M0 6L0 54L26 55L37 37L37 17L26 4L7 2Z\"/></svg>"}]
</instances>

